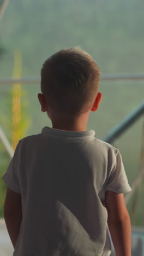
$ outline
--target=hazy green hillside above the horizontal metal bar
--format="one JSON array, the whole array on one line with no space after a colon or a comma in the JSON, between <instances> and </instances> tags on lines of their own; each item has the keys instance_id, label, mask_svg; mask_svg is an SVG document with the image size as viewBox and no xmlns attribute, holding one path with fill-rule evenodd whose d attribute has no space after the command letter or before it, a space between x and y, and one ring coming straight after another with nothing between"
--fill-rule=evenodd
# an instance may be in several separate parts
<instances>
[{"instance_id":1,"label":"hazy green hillside above the horizontal metal bar","mask_svg":"<svg viewBox=\"0 0 144 256\"><path fill-rule=\"evenodd\" d=\"M102 73L143 72L143 8L141 0L10 1L0 25L8 48L1 75L11 75L16 48L23 75L39 75L47 56L74 45L92 54Z\"/></svg>"}]
</instances>

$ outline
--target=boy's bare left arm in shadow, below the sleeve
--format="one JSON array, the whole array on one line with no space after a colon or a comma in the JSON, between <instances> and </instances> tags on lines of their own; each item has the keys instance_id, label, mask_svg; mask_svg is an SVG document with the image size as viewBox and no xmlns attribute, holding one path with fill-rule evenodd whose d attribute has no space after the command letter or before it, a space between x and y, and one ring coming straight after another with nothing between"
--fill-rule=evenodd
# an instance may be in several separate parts
<instances>
[{"instance_id":1,"label":"boy's bare left arm in shadow, below the sleeve","mask_svg":"<svg viewBox=\"0 0 144 256\"><path fill-rule=\"evenodd\" d=\"M21 194L7 188L4 202L4 219L9 236L15 248L22 220Z\"/></svg>"}]
</instances>

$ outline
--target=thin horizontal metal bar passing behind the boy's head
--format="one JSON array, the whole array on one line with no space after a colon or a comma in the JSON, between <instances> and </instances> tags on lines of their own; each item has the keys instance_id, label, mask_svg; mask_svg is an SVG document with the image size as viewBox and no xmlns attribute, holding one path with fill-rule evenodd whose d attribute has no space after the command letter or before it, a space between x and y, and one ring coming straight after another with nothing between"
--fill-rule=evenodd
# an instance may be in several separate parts
<instances>
[{"instance_id":1,"label":"thin horizontal metal bar passing behind the boy's head","mask_svg":"<svg viewBox=\"0 0 144 256\"><path fill-rule=\"evenodd\" d=\"M101 75L101 81L112 80L144 80L144 74L116 74L116 75ZM3 84L40 84L40 78L20 78L20 79L1 79L0 85Z\"/></svg>"}]
</instances>

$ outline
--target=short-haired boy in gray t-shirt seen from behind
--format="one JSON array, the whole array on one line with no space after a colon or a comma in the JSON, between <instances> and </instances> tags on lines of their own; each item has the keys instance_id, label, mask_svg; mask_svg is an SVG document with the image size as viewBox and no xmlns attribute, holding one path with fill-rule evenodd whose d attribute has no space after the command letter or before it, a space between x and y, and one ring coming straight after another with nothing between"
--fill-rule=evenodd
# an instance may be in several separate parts
<instances>
[{"instance_id":1,"label":"short-haired boy in gray t-shirt seen from behind","mask_svg":"<svg viewBox=\"0 0 144 256\"><path fill-rule=\"evenodd\" d=\"M102 98L100 72L80 48L58 51L41 69L41 110L52 121L17 144L3 180L14 256L130 256L131 189L121 154L86 131Z\"/></svg>"}]
</instances>

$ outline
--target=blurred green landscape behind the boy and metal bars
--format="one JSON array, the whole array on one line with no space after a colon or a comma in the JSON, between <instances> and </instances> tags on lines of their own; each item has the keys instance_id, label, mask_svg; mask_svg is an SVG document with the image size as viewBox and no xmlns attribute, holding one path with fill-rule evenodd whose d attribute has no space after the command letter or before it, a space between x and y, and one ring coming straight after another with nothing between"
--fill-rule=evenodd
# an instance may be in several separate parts
<instances>
[{"instance_id":1,"label":"blurred green landscape behind the boy and metal bars","mask_svg":"<svg viewBox=\"0 0 144 256\"><path fill-rule=\"evenodd\" d=\"M0 2L1 3L1 2ZM144 67L143 8L141 0L25 0L10 1L0 22L0 79L14 77L15 51L21 51L21 77L39 77L43 62L57 50L81 45L97 61L101 74L141 74ZM1 50L2 49L2 50ZM103 137L143 101L144 81L101 82L103 101L91 112L87 130ZM31 123L26 136L51 126L40 111L38 84L22 84L23 112ZM11 142L11 85L0 85L0 125ZM30 125L31 124L31 125ZM140 168L141 118L113 144L122 154L129 183ZM0 174L10 157L0 142ZM143 188L134 225L143 223ZM0 216L5 185L0 181ZM131 207L130 203L128 205Z\"/></svg>"}]
</instances>

